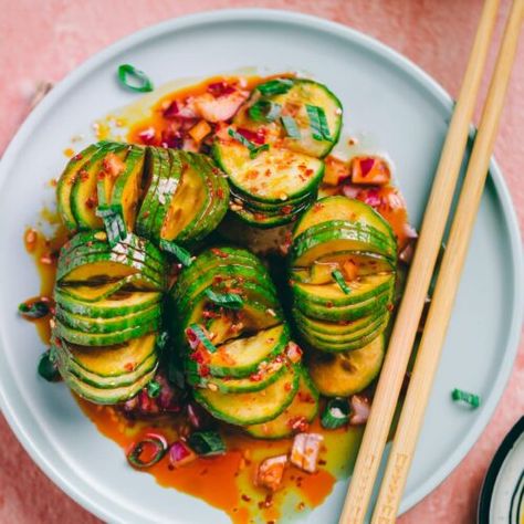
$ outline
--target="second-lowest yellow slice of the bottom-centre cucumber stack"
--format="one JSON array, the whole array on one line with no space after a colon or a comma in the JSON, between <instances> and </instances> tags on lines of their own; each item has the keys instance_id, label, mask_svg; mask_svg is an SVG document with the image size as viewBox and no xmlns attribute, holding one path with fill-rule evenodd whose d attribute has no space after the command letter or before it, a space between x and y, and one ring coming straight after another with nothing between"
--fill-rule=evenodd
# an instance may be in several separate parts
<instances>
[{"instance_id":1,"label":"second-lowest yellow slice of the bottom-centre cucumber stack","mask_svg":"<svg viewBox=\"0 0 524 524\"><path fill-rule=\"evenodd\" d=\"M298 388L300 374L286 368L279 380L261 391L223 394L196 389L195 399L214 418L237 426L261 423L276 418L293 401Z\"/></svg>"}]
</instances>

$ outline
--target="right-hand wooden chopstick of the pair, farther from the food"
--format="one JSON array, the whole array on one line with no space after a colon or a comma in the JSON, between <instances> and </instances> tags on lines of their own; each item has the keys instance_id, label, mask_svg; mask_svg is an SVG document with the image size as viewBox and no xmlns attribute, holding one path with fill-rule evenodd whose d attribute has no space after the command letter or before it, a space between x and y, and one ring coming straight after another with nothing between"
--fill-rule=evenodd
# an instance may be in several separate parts
<instances>
[{"instance_id":1,"label":"right-hand wooden chopstick of the pair, farther from the food","mask_svg":"<svg viewBox=\"0 0 524 524\"><path fill-rule=\"evenodd\" d=\"M514 0L371 524L394 523L400 504L481 202L523 17L524 0Z\"/></svg>"}]
</instances>

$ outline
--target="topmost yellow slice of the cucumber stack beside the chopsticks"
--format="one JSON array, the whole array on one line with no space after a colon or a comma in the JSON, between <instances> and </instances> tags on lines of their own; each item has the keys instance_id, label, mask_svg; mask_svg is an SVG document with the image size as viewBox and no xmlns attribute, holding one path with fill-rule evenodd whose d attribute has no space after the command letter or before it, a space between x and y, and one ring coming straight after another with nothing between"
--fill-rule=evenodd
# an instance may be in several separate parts
<instances>
[{"instance_id":1,"label":"topmost yellow slice of the cucumber stack beside the chopsticks","mask_svg":"<svg viewBox=\"0 0 524 524\"><path fill-rule=\"evenodd\" d=\"M301 220L296 222L293 239L296 239L313 226L333 220L371 227L397 247L397 239L387 220L367 203L343 196L326 197L318 200L315 207L304 213Z\"/></svg>"}]
</instances>

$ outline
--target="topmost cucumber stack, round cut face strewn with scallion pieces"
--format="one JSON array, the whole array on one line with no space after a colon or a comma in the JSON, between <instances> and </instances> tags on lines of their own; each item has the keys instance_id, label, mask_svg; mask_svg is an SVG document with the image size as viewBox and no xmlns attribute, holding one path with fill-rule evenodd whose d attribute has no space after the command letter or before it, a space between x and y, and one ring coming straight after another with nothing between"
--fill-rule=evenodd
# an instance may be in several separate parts
<instances>
[{"instance_id":1,"label":"topmost cucumber stack, round cut face strewn with scallion pieces","mask_svg":"<svg viewBox=\"0 0 524 524\"><path fill-rule=\"evenodd\" d=\"M322 158L338 139L342 105L325 85L259 85L213 147L231 187L231 213L254 228L290 223L316 200Z\"/></svg>"}]
</instances>

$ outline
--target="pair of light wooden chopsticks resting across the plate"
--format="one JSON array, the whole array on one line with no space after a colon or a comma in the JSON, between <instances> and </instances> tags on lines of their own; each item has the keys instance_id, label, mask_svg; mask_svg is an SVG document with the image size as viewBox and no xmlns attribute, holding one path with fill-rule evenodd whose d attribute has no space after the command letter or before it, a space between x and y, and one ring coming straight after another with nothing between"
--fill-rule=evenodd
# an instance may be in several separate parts
<instances>
[{"instance_id":1,"label":"pair of light wooden chopsticks resting across the plate","mask_svg":"<svg viewBox=\"0 0 524 524\"><path fill-rule=\"evenodd\" d=\"M484 2L462 87L426 208L404 298L391 333L364 440L340 515L340 524L361 524L366 517L450 214L497 11L499 0ZM371 524L389 524L396 520L488 176L523 17L524 0L513 0Z\"/></svg>"}]
</instances>

